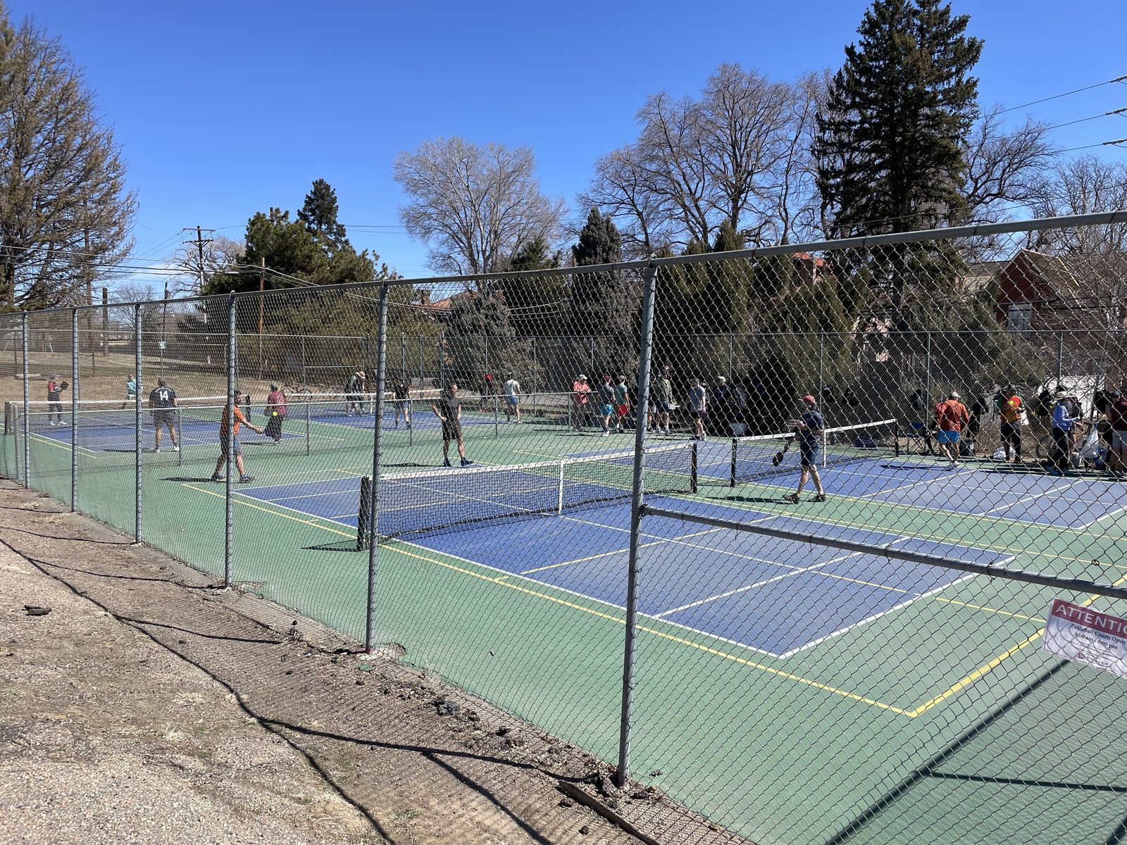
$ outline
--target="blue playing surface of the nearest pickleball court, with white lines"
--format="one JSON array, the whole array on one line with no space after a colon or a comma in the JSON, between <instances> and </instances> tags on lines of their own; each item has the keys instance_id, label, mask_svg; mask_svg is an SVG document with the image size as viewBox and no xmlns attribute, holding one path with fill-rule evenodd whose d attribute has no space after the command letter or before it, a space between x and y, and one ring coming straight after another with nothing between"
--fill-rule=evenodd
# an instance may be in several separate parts
<instances>
[{"instance_id":1,"label":"blue playing surface of the nearest pickleball court, with white lines","mask_svg":"<svg viewBox=\"0 0 1127 845\"><path fill-rule=\"evenodd\" d=\"M456 478L460 473L453 470L450 474ZM360 481L355 478L241 488L237 495L350 528L357 524ZM468 495L458 497L458 507L465 506ZM655 497L651 502L702 513L707 508L710 516L734 521L771 521L773 527L797 532L814 527L800 517L680 497ZM381 495L380 513L397 519L397 509L427 512L447 504L410 504ZM564 515L486 518L444 531L406 533L396 542L621 610L625 604L629 524L629 507L615 502ZM818 527L822 533L827 528ZM932 555L993 564L1010 560L993 551L897 537L882 531L850 528L848 533L857 542L893 543ZM843 552L654 516L644 523L642 554L641 613L779 658L973 577L880 554ZM764 612L773 608L781 610Z\"/></svg>"}]
</instances>

